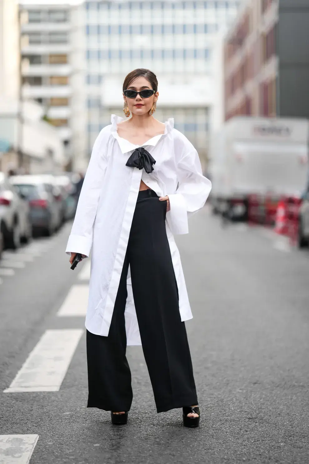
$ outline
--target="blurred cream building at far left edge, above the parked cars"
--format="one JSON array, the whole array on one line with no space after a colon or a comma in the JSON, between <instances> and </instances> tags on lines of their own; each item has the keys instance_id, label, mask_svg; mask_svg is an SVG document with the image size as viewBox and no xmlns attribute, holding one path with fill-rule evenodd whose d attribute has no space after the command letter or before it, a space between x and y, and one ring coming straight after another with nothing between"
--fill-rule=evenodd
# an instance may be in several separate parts
<instances>
[{"instance_id":1,"label":"blurred cream building at far left edge, above the parked cars","mask_svg":"<svg viewBox=\"0 0 309 464\"><path fill-rule=\"evenodd\" d=\"M63 169L57 131L43 108L21 98L19 8L0 0L0 170L47 172Z\"/></svg>"}]
</instances>

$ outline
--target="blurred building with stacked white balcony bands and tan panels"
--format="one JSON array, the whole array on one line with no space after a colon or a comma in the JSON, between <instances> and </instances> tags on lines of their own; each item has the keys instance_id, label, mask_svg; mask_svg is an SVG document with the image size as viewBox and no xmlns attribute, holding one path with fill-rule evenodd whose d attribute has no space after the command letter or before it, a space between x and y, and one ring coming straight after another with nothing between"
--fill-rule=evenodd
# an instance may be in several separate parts
<instances>
[{"instance_id":1,"label":"blurred building with stacked white balcony bands and tan panels","mask_svg":"<svg viewBox=\"0 0 309 464\"><path fill-rule=\"evenodd\" d=\"M23 97L42 104L63 142L66 168L85 162L82 7L65 2L20 6Z\"/></svg>"}]
</instances>

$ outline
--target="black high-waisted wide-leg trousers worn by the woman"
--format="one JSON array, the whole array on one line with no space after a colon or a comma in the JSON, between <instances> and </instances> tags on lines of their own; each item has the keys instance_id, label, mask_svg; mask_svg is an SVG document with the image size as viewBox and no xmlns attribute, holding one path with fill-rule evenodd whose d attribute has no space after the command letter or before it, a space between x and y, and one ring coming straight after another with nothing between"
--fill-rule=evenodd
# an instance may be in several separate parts
<instances>
[{"instance_id":1,"label":"black high-waisted wide-leg trousers worn by the woman","mask_svg":"<svg viewBox=\"0 0 309 464\"><path fill-rule=\"evenodd\" d=\"M139 192L108 336L87 330L88 407L129 411L131 372L126 360L126 279L132 291L157 412L197 405L191 356L166 235L166 201Z\"/></svg>"}]
</instances>

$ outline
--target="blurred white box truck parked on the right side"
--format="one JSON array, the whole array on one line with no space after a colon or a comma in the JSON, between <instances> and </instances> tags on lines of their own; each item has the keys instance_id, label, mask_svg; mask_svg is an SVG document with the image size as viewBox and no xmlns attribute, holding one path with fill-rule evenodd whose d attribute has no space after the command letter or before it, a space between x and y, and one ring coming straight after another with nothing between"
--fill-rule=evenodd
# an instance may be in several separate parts
<instances>
[{"instance_id":1,"label":"blurred white box truck parked on the right side","mask_svg":"<svg viewBox=\"0 0 309 464\"><path fill-rule=\"evenodd\" d=\"M210 137L214 213L246 220L252 195L299 198L308 179L306 119L236 116Z\"/></svg>"}]
</instances>

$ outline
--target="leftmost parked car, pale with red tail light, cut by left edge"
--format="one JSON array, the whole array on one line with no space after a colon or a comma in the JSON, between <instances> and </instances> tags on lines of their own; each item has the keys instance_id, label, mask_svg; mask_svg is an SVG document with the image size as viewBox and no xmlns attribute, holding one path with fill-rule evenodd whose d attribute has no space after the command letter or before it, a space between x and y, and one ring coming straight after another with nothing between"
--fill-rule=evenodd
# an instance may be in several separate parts
<instances>
[{"instance_id":1,"label":"leftmost parked car, pale with red tail light, cut by left edge","mask_svg":"<svg viewBox=\"0 0 309 464\"><path fill-rule=\"evenodd\" d=\"M31 237L28 202L0 172L0 251L5 248L15 250Z\"/></svg>"}]
</instances>

